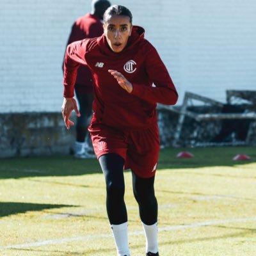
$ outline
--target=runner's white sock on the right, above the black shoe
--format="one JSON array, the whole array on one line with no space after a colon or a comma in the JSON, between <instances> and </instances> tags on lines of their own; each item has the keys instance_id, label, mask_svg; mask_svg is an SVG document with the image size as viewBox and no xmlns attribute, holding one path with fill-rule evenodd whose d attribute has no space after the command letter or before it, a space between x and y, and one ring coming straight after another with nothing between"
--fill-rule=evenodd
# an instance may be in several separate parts
<instances>
[{"instance_id":1,"label":"runner's white sock on the right, above the black shoe","mask_svg":"<svg viewBox=\"0 0 256 256\"><path fill-rule=\"evenodd\" d=\"M158 243L157 243L157 222L153 225L146 225L142 222L145 236L146 236L146 253L158 252Z\"/></svg>"}]
</instances>

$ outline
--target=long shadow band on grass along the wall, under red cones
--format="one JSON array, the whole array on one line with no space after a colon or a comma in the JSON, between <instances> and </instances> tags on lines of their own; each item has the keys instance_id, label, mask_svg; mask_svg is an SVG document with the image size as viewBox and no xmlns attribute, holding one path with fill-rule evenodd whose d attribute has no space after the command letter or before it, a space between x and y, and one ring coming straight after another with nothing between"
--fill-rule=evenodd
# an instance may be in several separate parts
<instances>
[{"instance_id":1,"label":"long shadow band on grass along the wall, under red cones","mask_svg":"<svg viewBox=\"0 0 256 256\"><path fill-rule=\"evenodd\" d=\"M177 154L189 151L194 157L181 159ZM234 161L237 154L247 154L249 161ZM253 147L164 148L157 170L236 166L255 162ZM24 177L73 176L102 173L97 159L74 159L72 156L13 157L0 160L0 179Z\"/></svg>"}]
</instances>

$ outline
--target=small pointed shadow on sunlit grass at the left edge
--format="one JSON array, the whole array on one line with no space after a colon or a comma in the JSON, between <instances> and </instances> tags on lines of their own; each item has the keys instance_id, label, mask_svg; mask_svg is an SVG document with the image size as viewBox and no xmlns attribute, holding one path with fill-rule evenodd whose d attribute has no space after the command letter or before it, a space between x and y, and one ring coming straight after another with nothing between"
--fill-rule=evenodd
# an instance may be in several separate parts
<instances>
[{"instance_id":1,"label":"small pointed shadow on sunlit grass at the left edge","mask_svg":"<svg viewBox=\"0 0 256 256\"><path fill-rule=\"evenodd\" d=\"M9 216L12 214L25 213L28 211L42 211L45 209L53 209L53 208L61 208L61 207L76 207L76 205L0 202L0 217Z\"/></svg>"}]
</instances>

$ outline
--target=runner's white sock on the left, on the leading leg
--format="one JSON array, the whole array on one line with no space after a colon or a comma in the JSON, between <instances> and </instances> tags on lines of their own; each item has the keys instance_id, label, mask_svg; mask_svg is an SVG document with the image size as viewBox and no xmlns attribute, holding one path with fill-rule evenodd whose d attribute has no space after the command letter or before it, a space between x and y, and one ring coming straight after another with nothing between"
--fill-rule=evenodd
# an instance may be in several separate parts
<instances>
[{"instance_id":1,"label":"runner's white sock on the left, on the leading leg","mask_svg":"<svg viewBox=\"0 0 256 256\"><path fill-rule=\"evenodd\" d=\"M111 225L115 238L116 251L118 256L130 255L128 245L128 222L120 225Z\"/></svg>"}]
</instances>

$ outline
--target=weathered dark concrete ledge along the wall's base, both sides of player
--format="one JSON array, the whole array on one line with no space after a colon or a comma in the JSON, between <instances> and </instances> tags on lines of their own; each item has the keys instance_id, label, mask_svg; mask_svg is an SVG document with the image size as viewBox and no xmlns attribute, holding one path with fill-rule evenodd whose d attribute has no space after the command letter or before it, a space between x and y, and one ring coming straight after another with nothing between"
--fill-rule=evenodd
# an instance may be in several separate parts
<instances>
[{"instance_id":1,"label":"weathered dark concrete ledge along the wall's base, both sides of player","mask_svg":"<svg viewBox=\"0 0 256 256\"><path fill-rule=\"evenodd\" d=\"M207 113L209 109L204 106L189 110ZM71 119L76 122L74 113ZM158 119L161 147L176 147L173 141L179 113L158 109ZM236 121L236 125L222 120L198 122L186 116L180 130L180 146L256 145L256 122L242 121ZM68 155L76 138L75 127L67 130L61 113L1 113L0 127L0 157ZM216 140L217 137L221 140Z\"/></svg>"}]
</instances>

